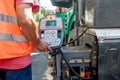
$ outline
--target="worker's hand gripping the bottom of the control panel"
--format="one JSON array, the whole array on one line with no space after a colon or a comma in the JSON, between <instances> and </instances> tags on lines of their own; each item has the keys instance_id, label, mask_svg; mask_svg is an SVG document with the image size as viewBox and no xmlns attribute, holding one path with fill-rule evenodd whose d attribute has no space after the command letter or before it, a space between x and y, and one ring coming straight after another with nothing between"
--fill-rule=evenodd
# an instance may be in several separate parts
<instances>
[{"instance_id":1,"label":"worker's hand gripping the bottom of the control panel","mask_svg":"<svg viewBox=\"0 0 120 80\"><path fill-rule=\"evenodd\" d=\"M40 40L40 42L36 45L37 50L42 52L52 52L50 46L44 40Z\"/></svg>"}]
</instances>

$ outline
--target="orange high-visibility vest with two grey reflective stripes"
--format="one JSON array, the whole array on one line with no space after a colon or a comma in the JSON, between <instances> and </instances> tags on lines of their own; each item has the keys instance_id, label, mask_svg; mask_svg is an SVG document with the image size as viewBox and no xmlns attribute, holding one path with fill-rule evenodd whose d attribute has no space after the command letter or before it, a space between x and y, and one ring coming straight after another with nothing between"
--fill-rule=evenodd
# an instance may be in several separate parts
<instances>
[{"instance_id":1,"label":"orange high-visibility vest with two grey reflective stripes","mask_svg":"<svg viewBox=\"0 0 120 80\"><path fill-rule=\"evenodd\" d=\"M33 49L18 25L15 0L0 0L0 59L28 55Z\"/></svg>"}]
</instances>

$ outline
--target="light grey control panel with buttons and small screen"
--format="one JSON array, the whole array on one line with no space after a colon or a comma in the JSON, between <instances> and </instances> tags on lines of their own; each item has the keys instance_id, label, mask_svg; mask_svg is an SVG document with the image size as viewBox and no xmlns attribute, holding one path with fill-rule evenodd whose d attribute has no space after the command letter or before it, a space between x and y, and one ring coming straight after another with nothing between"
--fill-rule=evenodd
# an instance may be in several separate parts
<instances>
[{"instance_id":1,"label":"light grey control panel with buttons and small screen","mask_svg":"<svg viewBox=\"0 0 120 80\"><path fill-rule=\"evenodd\" d=\"M54 14L47 15L40 20L39 35L51 48L62 46L64 30L61 17Z\"/></svg>"}]
</instances>

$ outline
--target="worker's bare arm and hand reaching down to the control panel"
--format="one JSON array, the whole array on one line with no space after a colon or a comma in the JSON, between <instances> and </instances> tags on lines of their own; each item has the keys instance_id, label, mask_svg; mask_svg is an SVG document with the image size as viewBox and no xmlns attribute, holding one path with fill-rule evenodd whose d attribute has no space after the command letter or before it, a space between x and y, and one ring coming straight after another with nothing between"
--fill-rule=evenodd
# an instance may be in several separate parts
<instances>
[{"instance_id":1,"label":"worker's bare arm and hand reaching down to the control panel","mask_svg":"<svg viewBox=\"0 0 120 80\"><path fill-rule=\"evenodd\" d=\"M39 39L38 27L32 14L31 5L19 4L16 6L16 12L20 27L27 39L40 51L52 51L45 41Z\"/></svg>"}]
</instances>

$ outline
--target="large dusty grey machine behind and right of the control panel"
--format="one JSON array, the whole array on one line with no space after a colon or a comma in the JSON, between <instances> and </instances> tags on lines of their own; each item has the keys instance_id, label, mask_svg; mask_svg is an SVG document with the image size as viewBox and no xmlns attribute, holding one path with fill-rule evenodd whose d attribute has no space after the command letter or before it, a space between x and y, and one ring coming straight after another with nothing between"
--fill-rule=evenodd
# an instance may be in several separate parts
<instances>
[{"instance_id":1,"label":"large dusty grey machine behind and right of the control panel","mask_svg":"<svg viewBox=\"0 0 120 80\"><path fill-rule=\"evenodd\" d=\"M53 57L54 80L120 80L120 0L51 1L74 6L81 29L73 40L80 44L60 47Z\"/></svg>"}]
</instances>

